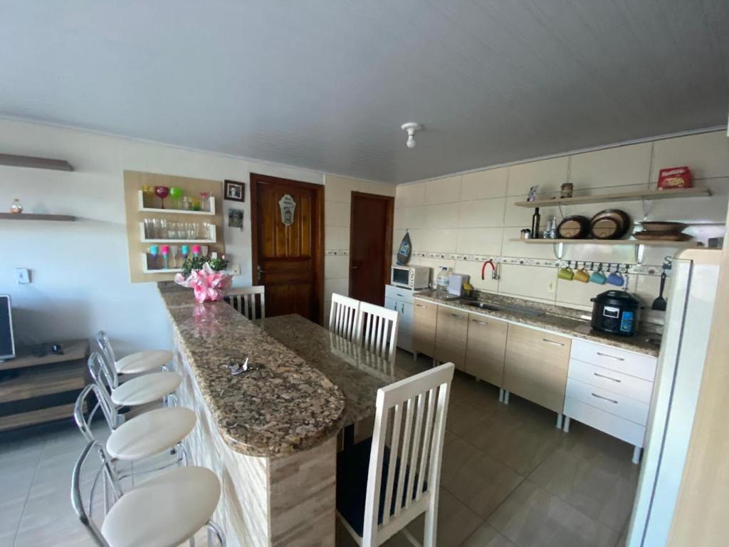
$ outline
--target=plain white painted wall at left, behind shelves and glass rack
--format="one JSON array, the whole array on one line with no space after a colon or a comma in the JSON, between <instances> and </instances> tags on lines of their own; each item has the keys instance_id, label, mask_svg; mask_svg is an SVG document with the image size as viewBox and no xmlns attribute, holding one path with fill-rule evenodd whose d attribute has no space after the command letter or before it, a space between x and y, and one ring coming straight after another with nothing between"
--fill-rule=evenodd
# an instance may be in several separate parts
<instances>
[{"instance_id":1,"label":"plain white painted wall at left, behind shelves and glass rack","mask_svg":"<svg viewBox=\"0 0 729 547\"><path fill-rule=\"evenodd\" d=\"M48 125L0 120L0 151L68 160L71 173L0 166L0 209L72 214L77 222L0 220L0 293L12 296L19 342L82 338L106 329L120 353L167 346L168 322L153 283L130 284L122 171L246 182L243 230L225 228L235 284L251 283L249 173L322 184L324 175ZM33 282L15 283L15 268Z\"/></svg>"}]
</instances>

